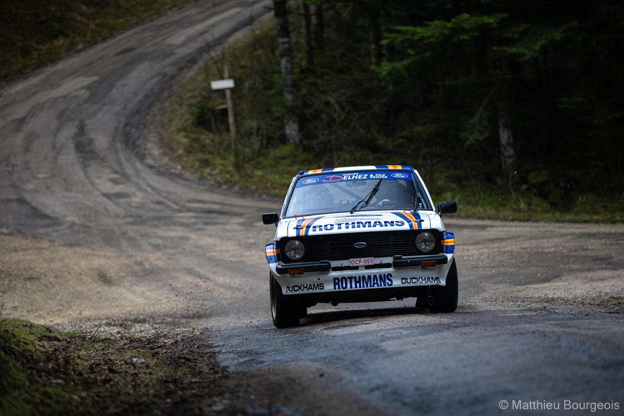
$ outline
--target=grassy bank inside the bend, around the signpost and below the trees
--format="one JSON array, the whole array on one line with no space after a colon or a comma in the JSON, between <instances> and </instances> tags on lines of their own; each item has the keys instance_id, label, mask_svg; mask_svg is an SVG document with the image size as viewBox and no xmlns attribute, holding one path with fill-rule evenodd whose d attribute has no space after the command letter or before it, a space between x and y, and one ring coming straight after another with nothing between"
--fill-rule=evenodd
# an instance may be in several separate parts
<instances>
[{"instance_id":1,"label":"grassy bank inside the bend, around the signpost and below the trees","mask_svg":"<svg viewBox=\"0 0 624 416\"><path fill-rule=\"evenodd\" d=\"M281 102L280 69L275 51L275 22L256 27L250 35L232 44L206 64L183 85L164 114L161 147L183 170L197 178L241 190L281 197L291 178L300 170L347 165L403 164L416 167L426 180L434 201L456 200L457 216L528 221L622 222L624 195L599 196L592 193L551 192L539 196L539 181L517 186L513 192L495 177L497 155L472 158L472 150L441 148L430 140L431 132L418 131L419 142L404 137L385 137L361 133L359 140L376 140L375 152L354 145L339 151L341 134L351 135L355 124L367 126L368 113L360 114L339 103L358 91L374 89L373 72L353 72L336 80L323 78L321 83L299 75L299 86L306 99L324 102L331 107L335 120L354 119L351 130L327 132L323 138L303 143L303 147L283 144L284 112ZM295 31L293 31L295 32ZM225 114L225 94L210 89L210 80L222 78L223 59L235 79L232 90L237 130L238 165L230 141ZM330 57L326 57L330 59ZM330 64L327 64L330 65ZM326 75L326 74L325 74ZM346 80L348 79L348 80ZM364 100L364 99L362 99ZM326 114L317 114L319 119ZM315 122L318 122L316 120ZM343 124L340 124L342 126ZM329 124L328 124L329 126ZM335 125L334 125L335 127ZM367 127L368 128L368 127ZM368 143L369 147L370 143ZM417 148L414 152L413 148ZM522 172L519 172L522 174ZM489 177L489 180L484 180Z\"/></svg>"}]
</instances>

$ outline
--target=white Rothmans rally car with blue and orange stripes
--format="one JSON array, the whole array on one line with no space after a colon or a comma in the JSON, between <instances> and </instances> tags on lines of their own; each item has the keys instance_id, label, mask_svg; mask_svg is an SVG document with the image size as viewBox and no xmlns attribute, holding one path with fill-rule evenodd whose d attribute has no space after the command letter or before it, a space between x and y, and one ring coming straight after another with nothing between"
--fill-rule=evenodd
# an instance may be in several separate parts
<instances>
[{"instance_id":1,"label":"white Rothmans rally car with blue and orange stripes","mask_svg":"<svg viewBox=\"0 0 624 416\"><path fill-rule=\"evenodd\" d=\"M321 303L416 297L431 312L457 308L455 236L442 224L454 201L433 201L409 166L359 166L298 173L266 244L276 327L299 324Z\"/></svg>"}]
</instances>

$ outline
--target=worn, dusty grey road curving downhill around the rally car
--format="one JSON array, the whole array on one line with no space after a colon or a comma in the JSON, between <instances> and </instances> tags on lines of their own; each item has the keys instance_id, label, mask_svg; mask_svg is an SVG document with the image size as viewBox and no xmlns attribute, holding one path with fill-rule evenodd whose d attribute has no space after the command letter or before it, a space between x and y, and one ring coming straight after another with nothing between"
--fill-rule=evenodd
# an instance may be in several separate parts
<instances>
[{"instance_id":1,"label":"worn, dusty grey road curving downhill around the rally car","mask_svg":"<svg viewBox=\"0 0 624 416\"><path fill-rule=\"evenodd\" d=\"M162 94L271 4L193 2L2 87L2 316L192 329L248 413L622 414L624 225L447 216L456 313L318 306L272 326L260 215L281 201L149 163Z\"/></svg>"}]
</instances>

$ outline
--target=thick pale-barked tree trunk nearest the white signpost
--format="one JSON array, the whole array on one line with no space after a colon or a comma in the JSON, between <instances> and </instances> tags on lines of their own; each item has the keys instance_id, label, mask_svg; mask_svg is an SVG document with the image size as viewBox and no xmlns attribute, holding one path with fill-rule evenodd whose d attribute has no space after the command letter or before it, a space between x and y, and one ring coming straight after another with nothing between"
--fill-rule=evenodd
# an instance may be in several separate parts
<instances>
[{"instance_id":1,"label":"thick pale-barked tree trunk nearest the white signpost","mask_svg":"<svg viewBox=\"0 0 624 416\"><path fill-rule=\"evenodd\" d=\"M299 120L293 107L295 105L295 80L293 79L293 52L290 42L290 27L288 26L288 11L286 11L286 0L273 0L275 7L275 21L277 24L277 41L280 52L280 68L282 78L282 94L286 105L284 115L284 125L286 140L288 143L298 145Z\"/></svg>"}]
</instances>

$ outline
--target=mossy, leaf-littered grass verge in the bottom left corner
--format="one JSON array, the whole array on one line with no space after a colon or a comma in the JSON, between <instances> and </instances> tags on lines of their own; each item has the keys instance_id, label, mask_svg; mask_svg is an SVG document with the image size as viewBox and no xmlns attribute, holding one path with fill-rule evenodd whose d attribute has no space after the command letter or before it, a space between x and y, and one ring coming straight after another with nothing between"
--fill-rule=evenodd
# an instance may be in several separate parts
<instances>
[{"instance_id":1,"label":"mossy, leaf-littered grass verge in the bottom left corner","mask_svg":"<svg viewBox=\"0 0 624 416\"><path fill-rule=\"evenodd\" d=\"M179 414L200 400L235 413L219 404L223 370L212 353L193 355L178 341L61 333L0 319L0 414Z\"/></svg>"}]
</instances>

